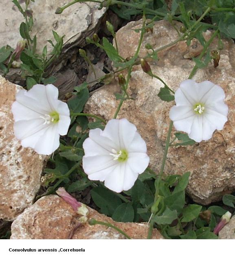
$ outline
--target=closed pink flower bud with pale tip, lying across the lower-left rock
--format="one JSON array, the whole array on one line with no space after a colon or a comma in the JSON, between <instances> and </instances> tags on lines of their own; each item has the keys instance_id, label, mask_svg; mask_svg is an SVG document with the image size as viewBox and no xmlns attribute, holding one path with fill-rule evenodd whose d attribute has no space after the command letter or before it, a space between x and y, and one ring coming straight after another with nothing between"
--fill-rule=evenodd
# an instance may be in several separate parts
<instances>
[{"instance_id":1,"label":"closed pink flower bud with pale tip, lying across the lower-left rock","mask_svg":"<svg viewBox=\"0 0 235 256\"><path fill-rule=\"evenodd\" d=\"M88 209L86 207L86 205L84 205L83 203L78 202L74 197L72 197L70 194L68 194L68 192L66 192L66 190L64 188L58 188L56 191L58 196L61 196L64 201L66 201L68 204L70 204L73 208L73 210L75 210L75 212L77 212L77 214L86 216L88 214Z\"/></svg>"}]
</instances>

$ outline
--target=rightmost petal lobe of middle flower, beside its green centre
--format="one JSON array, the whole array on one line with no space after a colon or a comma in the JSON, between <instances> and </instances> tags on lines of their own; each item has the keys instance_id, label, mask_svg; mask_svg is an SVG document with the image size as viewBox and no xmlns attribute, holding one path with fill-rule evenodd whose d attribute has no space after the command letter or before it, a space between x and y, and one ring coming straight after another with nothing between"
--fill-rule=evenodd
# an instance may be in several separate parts
<instances>
[{"instance_id":1,"label":"rightmost petal lobe of middle flower, beside its green centre","mask_svg":"<svg viewBox=\"0 0 235 256\"><path fill-rule=\"evenodd\" d=\"M133 172L141 174L149 165L149 156L146 153L129 153L127 164Z\"/></svg>"}]
</instances>

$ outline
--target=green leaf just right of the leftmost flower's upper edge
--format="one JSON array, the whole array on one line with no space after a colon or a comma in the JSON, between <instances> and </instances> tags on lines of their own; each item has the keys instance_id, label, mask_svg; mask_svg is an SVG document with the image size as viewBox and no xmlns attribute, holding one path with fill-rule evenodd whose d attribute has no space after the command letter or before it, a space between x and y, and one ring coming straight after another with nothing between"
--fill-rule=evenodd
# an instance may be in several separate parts
<instances>
[{"instance_id":1,"label":"green leaf just right of the leftmost flower's upper edge","mask_svg":"<svg viewBox=\"0 0 235 256\"><path fill-rule=\"evenodd\" d=\"M88 88L81 90L75 97L68 101L68 107L73 113L81 113L83 106L86 104L89 98Z\"/></svg>"}]
</instances>

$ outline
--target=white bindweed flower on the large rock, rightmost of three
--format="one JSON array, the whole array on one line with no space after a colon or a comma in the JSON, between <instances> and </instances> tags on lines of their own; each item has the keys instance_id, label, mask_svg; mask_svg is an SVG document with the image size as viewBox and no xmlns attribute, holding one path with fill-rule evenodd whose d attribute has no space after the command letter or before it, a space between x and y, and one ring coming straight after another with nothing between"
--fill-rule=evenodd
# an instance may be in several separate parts
<instances>
[{"instance_id":1,"label":"white bindweed flower on the large rock, rightmost of three","mask_svg":"<svg viewBox=\"0 0 235 256\"><path fill-rule=\"evenodd\" d=\"M176 90L170 119L176 130L187 132L197 142L211 139L215 129L222 130L227 121L224 98L224 90L210 81L185 80Z\"/></svg>"}]
</instances>

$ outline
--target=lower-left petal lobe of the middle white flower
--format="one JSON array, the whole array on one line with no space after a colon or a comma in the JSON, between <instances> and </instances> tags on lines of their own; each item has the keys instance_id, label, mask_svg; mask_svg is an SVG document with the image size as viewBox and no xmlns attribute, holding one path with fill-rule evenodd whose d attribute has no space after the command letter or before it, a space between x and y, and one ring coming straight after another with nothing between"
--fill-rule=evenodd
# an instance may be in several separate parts
<instances>
[{"instance_id":1,"label":"lower-left petal lobe of the middle white flower","mask_svg":"<svg viewBox=\"0 0 235 256\"><path fill-rule=\"evenodd\" d=\"M110 168L118 164L110 155L99 155L93 157L84 156L82 158L83 169L86 174L92 174Z\"/></svg>"}]
</instances>

